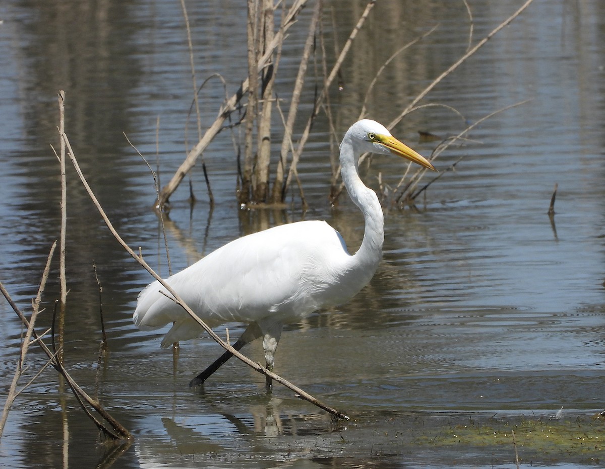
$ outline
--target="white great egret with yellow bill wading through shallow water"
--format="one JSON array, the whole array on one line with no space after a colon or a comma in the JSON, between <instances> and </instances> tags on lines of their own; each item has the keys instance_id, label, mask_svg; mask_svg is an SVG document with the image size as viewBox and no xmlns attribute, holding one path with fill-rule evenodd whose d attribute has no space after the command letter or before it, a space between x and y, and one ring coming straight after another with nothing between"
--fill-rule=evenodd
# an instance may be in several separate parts
<instances>
[{"instance_id":1,"label":"white great egret with yellow bill wading through shallow water","mask_svg":"<svg viewBox=\"0 0 605 469\"><path fill-rule=\"evenodd\" d=\"M269 370L284 324L347 302L376 272L384 241L383 215L376 193L359 178L358 160L365 152L393 153L434 170L430 161L375 121L364 119L347 130L340 145L341 176L365 222L364 239L355 254L348 253L341 235L327 223L297 222L231 241L166 279L209 327L248 324L235 349L263 337ZM139 294L134 324L151 330L174 323L163 347L200 336L201 327L162 290L155 281ZM189 385L203 383L231 356L224 353ZM268 377L266 385L270 389Z\"/></svg>"}]
</instances>

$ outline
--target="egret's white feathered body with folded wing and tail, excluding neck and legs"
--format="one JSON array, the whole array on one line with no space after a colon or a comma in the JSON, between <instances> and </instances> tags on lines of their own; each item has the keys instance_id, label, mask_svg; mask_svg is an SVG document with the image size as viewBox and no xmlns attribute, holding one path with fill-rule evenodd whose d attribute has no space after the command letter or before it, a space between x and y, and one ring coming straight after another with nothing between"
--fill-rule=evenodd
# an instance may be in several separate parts
<instances>
[{"instance_id":1,"label":"egret's white feathered body with folded wing and tail, excluding neck and legs","mask_svg":"<svg viewBox=\"0 0 605 469\"><path fill-rule=\"evenodd\" d=\"M232 241L166 282L210 327L270 316L288 324L346 301L367 283L353 292L343 283L350 258L327 223L290 223ZM139 294L134 323L152 329L177 322L163 345L197 337L200 327L164 290L155 281Z\"/></svg>"}]
</instances>

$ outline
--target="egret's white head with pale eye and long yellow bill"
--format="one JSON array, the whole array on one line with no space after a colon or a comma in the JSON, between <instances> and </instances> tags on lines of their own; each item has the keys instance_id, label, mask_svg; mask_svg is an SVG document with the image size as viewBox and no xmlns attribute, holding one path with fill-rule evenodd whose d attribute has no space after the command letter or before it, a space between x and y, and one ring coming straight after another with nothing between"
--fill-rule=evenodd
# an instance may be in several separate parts
<instances>
[{"instance_id":1,"label":"egret's white head with pale eye and long yellow bill","mask_svg":"<svg viewBox=\"0 0 605 469\"><path fill-rule=\"evenodd\" d=\"M376 121L363 119L356 122L347 130L347 136L359 153L370 152L381 155L392 153L413 161L422 167L435 170L428 159L394 138L386 127Z\"/></svg>"}]
</instances>

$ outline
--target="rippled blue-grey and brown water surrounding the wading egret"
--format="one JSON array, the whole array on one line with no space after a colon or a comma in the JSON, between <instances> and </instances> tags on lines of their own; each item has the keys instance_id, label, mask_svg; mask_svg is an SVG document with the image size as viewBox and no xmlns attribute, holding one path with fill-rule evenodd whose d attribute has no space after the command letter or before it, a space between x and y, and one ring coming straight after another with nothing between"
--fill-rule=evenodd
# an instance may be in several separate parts
<instances>
[{"instance_id":1,"label":"rippled blue-grey and brown water surrounding the wading egret","mask_svg":"<svg viewBox=\"0 0 605 469\"><path fill-rule=\"evenodd\" d=\"M220 72L232 92L246 69L245 9L240 2L191 3L198 75ZM341 43L364 7L350 3L327 5L338 14ZM522 2L469 4L476 42ZM159 116L163 180L183 158L191 82L178 2L8 0L0 20L5 287L27 308L59 235L59 169L49 147L57 142L59 89L67 92L67 133L94 191L126 241L142 246L166 274L163 240L149 209L152 180L122 132L153 161ZM464 53L469 21L463 2L379 2L345 65L344 90L331 97L339 132L358 117L376 69L436 24L435 33L381 75L369 112L383 123ZM325 28L331 30L329 19ZM305 34L301 22L284 49L283 96ZM435 144L419 142L417 130L454 135L488 113L531 99L485 121L472 141L445 152L441 169L464 159L430 187L417 210L387 211L384 261L370 286L339 310L320 311L284 331L276 371L350 413L351 423L330 423L285 389L267 397L263 377L236 362L208 381L203 393L191 391L189 379L220 348L210 339L183 343L175 365L171 351L159 348L161 333L132 325L136 295L149 277L111 238L70 171L65 359L74 378L93 389L100 339L94 260L111 350L100 371L100 398L135 437L116 467L511 467L510 445L434 447L419 441L494 414L548 419L563 406L575 419L603 410L603 44L603 2L536 1L423 101L454 107L463 119L443 106L425 107L394 130L428 155ZM211 81L201 95L209 124L224 91ZM307 95L304 119L311 99ZM276 219L325 219L352 249L358 246L363 226L355 207L346 197L337 209L327 202L323 118L299 165L306 213L296 196L285 213L240 211L231 138L223 134L205 153L214 211L199 167L192 174L199 202L190 209L185 186L172 197L168 238L175 269ZM400 164L374 158L364 179L376 188L381 173L396 185ZM555 183L552 224L546 211ZM49 306L57 290L53 275L45 295ZM0 318L5 393L21 327L5 302ZM41 322L48 320L47 313ZM235 336L240 328L231 325L230 331ZM261 359L257 343L246 353ZM44 363L36 349L30 360L33 368ZM47 371L16 401L0 456L4 467L94 467L104 450L93 425ZM577 467L592 456L531 457Z\"/></svg>"}]
</instances>

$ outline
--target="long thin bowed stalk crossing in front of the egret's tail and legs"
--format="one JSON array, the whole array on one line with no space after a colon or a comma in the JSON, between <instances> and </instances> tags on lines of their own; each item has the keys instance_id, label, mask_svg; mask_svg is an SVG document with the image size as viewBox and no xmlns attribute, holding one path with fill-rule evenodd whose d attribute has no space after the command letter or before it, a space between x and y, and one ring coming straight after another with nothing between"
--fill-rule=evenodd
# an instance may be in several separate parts
<instances>
[{"instance_id":1,"label":"long thin bowed stalk crossing in front of the egret's tail and legs","mask_svg":"<svg viewBox=\"0 0 605 469\"><path fill-rule=\"evenodd\" d=\"M240 359L242 362L246 363L246 365L250 366L250 368L253 368L253 369L255 369L255 371L257 371L257 372L259 372L261 374L264 374L264 375L266 375L266 376L268 376L270 378L273 378L273 380L277 381L280 384L283 384L284 386L286 386L286 388L289 388L293 392L295 392L296 394L298 394L298 396L301 397L302 399L304 399L306 401L309 401L310 403L314 404L315 406L317 406L317 407L319 407L321 409L324 409L325 411L331 413L335 418L340 418L340 419L343 419L343 420L348 420L349 419L348 416L345 415L344 413L339 412L338 410L334 409L333 407L326 406L324 403L322 403L321 401L317 400L315 397L313 397L309 393L307 393L305 391L302 391L302 389L298 388L294 384L290 383L289 381L285 380L284 378L280 377L279 375L276 375L275 373L269 371L268 369L264 368L264 366L261 366L259 363L253 362L248 357L246 357L243 354L239 353L229 343L224 342L224 340L221 339L210 327L208 327L208 325L204 321L202 321L200 319L200 317L198 317L197 314L195 314L194 311L191 310L191 308L189 308L189 306L185 303L185 301L183 301L183 299L178 295L178 293L175 292L164 281L164 279L162 277L160 277L151 268L151 266L149 266L148 263L146 263L145 260L143 260L142 254L137 254L136 252L134 252L134 250L132 250L131 247L128 246L128 244L126 244L126 242L122 239L122 237L120 237L120 235L118 234L118 232L114 228L113 224L111 223L110 219L105 214L105 211L103 210L103 207L100 205L99 200L97 200L97 197L94 195L93 190L90 188L90 185L88 185L88 182L87 182L86 178L84 177L84 174L82 173L82 170L80 169L80 165L77 162L76 155L74 154L73 149L71 148L71 144L69 142L69 139L67 138L67 135L65 133L63 133L62 134L62 138L65 140L65 145L67 147L67 154L68 154L68 156L69 156L69 158L71 160L71 163L73 164L74 168L76 169L76 173L78 174L78 176L80 178L80 181L82 181L82 184L83 184L84 188L86 189L86 191L88 193L88 196L92 200L94 206L97 208L97 211L99 211L99 214L101 215L101 217L103 219L103 222L105 222L105 225L110 230L111 234L114 236L114 238L116 238L116 240L123 247L123 249L125 249L126 252L128 252L128 254L130 254L132 256L132 258L134 258L134 260L136 260L157 281L160 282L160 284L166 289L166 291L168 293L170 293L170 295L172 295L173 301L176 304L178 304L181 308L183 308L189 314L189 316L191 316L191 318L194 319L194 321L197 322L197 324L199 324L200 327L203 328L203 330L206 331L206 333L208 333L208 335L211 336L212 339L215 340L215 342L217 342L226 351L229 351L235 357L237 357L238 359Z\"/></svg>"}]
</instances>

